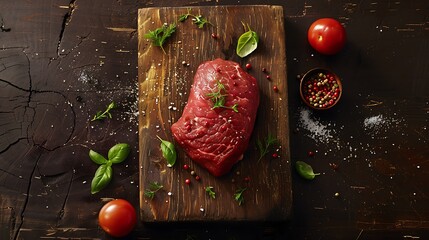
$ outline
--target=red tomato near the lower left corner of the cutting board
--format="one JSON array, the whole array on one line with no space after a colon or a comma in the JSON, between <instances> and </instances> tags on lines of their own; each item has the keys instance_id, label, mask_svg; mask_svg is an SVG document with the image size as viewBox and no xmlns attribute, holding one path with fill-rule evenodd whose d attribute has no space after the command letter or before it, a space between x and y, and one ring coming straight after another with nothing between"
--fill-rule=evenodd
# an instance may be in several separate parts
<instances>
[{"instance_id":1,"label":"red tomato near the lower left corner of the cutting board","mask_svg":"<svg viewBox=\"0 0 429 240\"><path fill-rule=\"evenodd\" d=\"M101 228L114 237L123 237L130 233L136 222L134 207L123 199L106 203L98 214L98 223Z\"/></svg>"}]
</instances>

